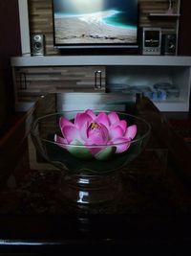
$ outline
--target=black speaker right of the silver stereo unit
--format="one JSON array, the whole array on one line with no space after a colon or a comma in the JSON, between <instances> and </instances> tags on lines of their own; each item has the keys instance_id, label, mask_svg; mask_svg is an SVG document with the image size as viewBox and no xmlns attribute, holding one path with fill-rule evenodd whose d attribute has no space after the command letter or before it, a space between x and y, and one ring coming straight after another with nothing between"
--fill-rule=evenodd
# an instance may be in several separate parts
<instances>
[{"instance_id":1,"label":"black speaker right of the silver stereo unit","mask_svg":"<svg viewBox=\"0 0 191 256\"><path fill-rule=\"evenodd\" d=\"M177 52L177 36L176 34L164 34L162 35L162 55L176 55Z\"/></svg>"}]
</instances>

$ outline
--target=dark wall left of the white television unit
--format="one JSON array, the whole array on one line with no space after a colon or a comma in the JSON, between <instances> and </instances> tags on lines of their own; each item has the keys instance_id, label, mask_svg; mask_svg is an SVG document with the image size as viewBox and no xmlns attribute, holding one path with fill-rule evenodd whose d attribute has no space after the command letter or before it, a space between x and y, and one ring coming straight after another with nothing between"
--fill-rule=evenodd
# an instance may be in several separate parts
<instances>
[{"instance_id":1,"label":"dark wall left of the white television unit","mask_svg":"<svg viewBox=\"0 0 191 256\"><path fill-rule=\"evenodd\" d=\"M17 0L0 0L0 63L4 76L1 92L4 91L6 115L13 111L13 85L10 58L21 54L19 12ZM4 88L2 88L4 86ZM1 106L0 106L1 107ZM2 118L2 117L1 117Z\"/></svg>"}]
</instances>

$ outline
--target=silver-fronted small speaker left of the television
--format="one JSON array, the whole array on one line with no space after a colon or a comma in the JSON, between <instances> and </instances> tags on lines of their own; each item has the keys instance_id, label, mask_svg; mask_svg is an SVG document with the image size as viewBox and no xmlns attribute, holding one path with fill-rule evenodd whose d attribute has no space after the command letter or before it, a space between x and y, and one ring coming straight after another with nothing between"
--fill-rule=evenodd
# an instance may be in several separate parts
<instances>
[{"instance_id":1,"label":"silver-fronted small speaker left of the television","mask_svg":"<svg viewBox=\"0 0 191 256\"><path fill-rule=\"evenodd\" d=\"M32 34L31 41L32 56L44 56L45 36L42 34Z\"/></svg>"}]
</instances>

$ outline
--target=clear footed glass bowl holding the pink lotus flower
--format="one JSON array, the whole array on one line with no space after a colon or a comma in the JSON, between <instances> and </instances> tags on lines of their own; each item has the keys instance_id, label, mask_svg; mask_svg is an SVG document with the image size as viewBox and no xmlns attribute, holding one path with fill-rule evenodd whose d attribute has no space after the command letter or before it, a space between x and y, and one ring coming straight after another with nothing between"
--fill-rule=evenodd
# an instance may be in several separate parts
<instances>
[{"instance_id":1,"label":"clear footed glass bowl holding the pink lotus flower","mask_svg":"<svg viewBox=\"0 0 191 256\"><path fill-rule=\"evenodd\" d=\"M106 110L94 110L96 115ZM78 205L97 204L118 199L122 192L120 169L138 157L145 148L149 139L151 127L143 119L117 112L120 120L125 120L129 126L137 126L137 134L127 143L120 142L110 145L81 145L57 143L55 134L61 136L60 118L65 117L70 121L80 111L56 112L37 118L32 122L31 135L36 150L54 167L62 171L60 191L64 198ZM126 151L116 153L117 147L126 147ZM107 149L96 157L84 151L99 151ZM82 156L81 156L81 153ZM85 156L84 156L85 155Z\"/></svg>"}]
</instances>

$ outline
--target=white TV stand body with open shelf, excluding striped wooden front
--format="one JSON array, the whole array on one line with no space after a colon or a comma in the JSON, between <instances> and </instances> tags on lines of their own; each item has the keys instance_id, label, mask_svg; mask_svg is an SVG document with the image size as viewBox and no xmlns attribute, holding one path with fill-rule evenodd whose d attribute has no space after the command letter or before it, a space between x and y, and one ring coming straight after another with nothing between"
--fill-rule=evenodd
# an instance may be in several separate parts
<instances>
[{"instance_id":1,"label":"white TV stand body with open shelf, excluding striped wooden front","mask_svg":"<svg viewBox=\"0 0 191 256\"><path fill-rule=\"evenodd\" d=\"M188 111L191 83L191 57L178 56L46 56L11 58L14 77L15 105L19 102L15 83L17 68L50 68L68 66L103 67L106 91L125 85L151 86L157 82L170 82L180 89L180 97L166 101L154 101L161 111ZM72 89L72 88L71 88ZM27 104L27 103L26 103Z\"/></svg>"}]
</instances>

